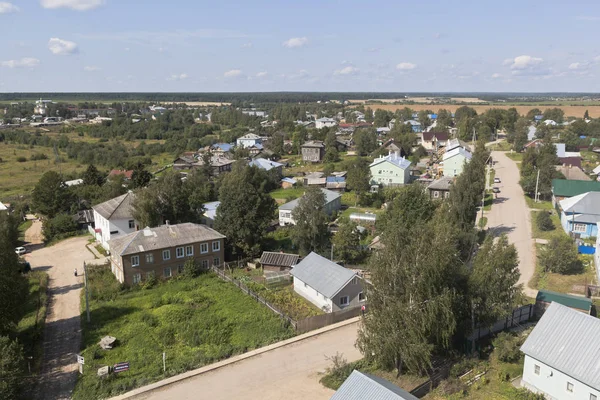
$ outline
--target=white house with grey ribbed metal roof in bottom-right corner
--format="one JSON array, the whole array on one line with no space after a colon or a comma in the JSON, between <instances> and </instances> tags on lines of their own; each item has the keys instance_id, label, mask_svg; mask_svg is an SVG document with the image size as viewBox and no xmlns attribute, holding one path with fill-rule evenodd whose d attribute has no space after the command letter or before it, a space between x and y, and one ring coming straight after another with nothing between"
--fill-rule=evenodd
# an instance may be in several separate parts
<instances>
[{"instance_id":1,"label":"white house with grey ribbed metal roof in bottom-right corner","mask_svg":"<svg viewBox=\"0 0 600 400\"><path fill-rule=\"evenodd\" d=\"M521 351L521 385L546 399L600 398L600 319L550 304Z\"/></svg>"}]
</instances>

